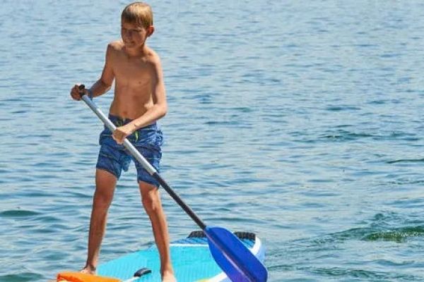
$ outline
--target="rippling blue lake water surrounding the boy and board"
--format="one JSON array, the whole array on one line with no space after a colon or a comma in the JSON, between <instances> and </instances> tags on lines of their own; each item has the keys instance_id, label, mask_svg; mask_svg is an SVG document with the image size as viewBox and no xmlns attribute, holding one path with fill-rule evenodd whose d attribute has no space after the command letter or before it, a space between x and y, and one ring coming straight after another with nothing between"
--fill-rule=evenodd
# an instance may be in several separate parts
<instances>
[{"instance_id":1,"label":"rippling blue lake water surrounding the boy and board","mask_svg":"<svg viewBox=\"0 0 424 282\"><path fill-rule=\"evenodd\" d=\"M163 177L257 233L269 281L424 281L424 4L226 2L151 1ZM1 1L0 281L85 262L102 126L69 90L98 79L126 3ZM172 239L197 229L163 202ZM102 262L152 243L131 167Z\"/></svg>"}]
</instances>

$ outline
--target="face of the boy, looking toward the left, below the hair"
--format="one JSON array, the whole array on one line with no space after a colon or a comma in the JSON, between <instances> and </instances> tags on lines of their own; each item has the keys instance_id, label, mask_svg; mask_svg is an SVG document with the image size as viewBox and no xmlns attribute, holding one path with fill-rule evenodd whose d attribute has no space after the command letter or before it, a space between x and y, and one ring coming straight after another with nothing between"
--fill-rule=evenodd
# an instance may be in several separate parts
<instances>
[{"instance_id":1,"label":"face of the boy, looking toward the left, below the hair","mask_svg":"<svg viewBox=\"0 0 424 282\"><path fill-rule=\"evenodd\" d=\"M121 37L127 48L142 47L146 42L147 37L153 33L153 26L148 28L137 25L136 23L121 23Z\"/></svg>"}]
</instances>

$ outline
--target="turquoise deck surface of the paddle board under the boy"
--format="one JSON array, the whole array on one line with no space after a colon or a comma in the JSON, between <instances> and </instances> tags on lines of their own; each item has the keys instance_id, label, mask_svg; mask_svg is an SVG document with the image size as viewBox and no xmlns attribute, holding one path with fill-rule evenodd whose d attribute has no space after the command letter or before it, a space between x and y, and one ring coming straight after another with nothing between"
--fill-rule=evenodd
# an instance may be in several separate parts
<instances>
[{"instance_id":1,"label":"turquoise deck surface of the paddle board under the boy","mask_svg":"<svg viewBox=\"0 0 424 282\"><path fill-rule=\"evenodd\" d=\"M252 250L257 243L257 237L254 233L235 232L234 234L249 250ZM213 259L208 247L208 239L203 231L193 231L187 238L173 241L170 243L170 251L172 266L178 282L230 281ZM254 255L263 262L263 246L259 246L259 249L255 252L257 253ZM142 268L151 270L151 272L144 274L135 282L161 281L160 259L158 248L155 245L101 264L98 266L98 275L125 281L133 277L134 273Z\"/></svg>"}]
</instances>

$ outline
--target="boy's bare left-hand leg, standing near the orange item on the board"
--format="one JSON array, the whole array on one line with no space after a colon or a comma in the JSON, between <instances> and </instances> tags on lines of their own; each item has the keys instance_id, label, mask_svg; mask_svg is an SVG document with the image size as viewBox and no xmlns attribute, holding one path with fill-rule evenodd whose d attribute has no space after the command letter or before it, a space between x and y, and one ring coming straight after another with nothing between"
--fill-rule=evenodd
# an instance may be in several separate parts
<instances>
[{"instance_id":1,"label":"boy's bare left-hand leg, standing near the orange item on the board","mask_svg":"<svg viewBox=\"0 0 424 282\"><path fill-rule=\"evenodd\" d=\"M95 274L98 264L100 245L105 235L107 211L112 202L117 178L107 171L97 169L95 172L95 193L91 210L90 232L88 234L88 255L83 273Z\"/></svg>"}]
</instances>

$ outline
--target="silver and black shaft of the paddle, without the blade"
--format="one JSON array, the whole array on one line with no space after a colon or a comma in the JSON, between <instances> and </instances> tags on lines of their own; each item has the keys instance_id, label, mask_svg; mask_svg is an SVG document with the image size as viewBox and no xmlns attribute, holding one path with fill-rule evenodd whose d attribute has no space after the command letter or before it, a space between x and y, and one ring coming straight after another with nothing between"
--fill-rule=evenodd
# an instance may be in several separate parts
<instances>
[{"instance_id":1,"label":"silver and black shaft of the paddle, without the blade","mask_svg":"<svg viewBox=\"0 0 424 282\"><path fill-rule=\"evenodd\" d=\"M100 108L86 95L82 95L81 99L83 99L84 102L90 107L92 111L100 118L100 120L106 125L107 128L113 133L114 130L117 129L117 127L110 121L105 114L100 110ZM170 188L170 185L166 183L166 181L162 178L162 176L159 175L158 171L155 170L155 168L148 162L146 159L140 154L140 152L134 147L134 145L129 142L128 139L125 138L124 140L124 147L129 151L129 153L136 158L137 161L143 166L146 171L153 176L160 185L166 190L166 192L172 197L172 199L179 204L179 207L184 209L184 212L186 212L193 220L197 223L197 225L201 228L201 230L204 230L206 228L206 224L199 219L199 216L197 216L193 210L187 206L187 204L177 195L177 193Z\"/></svg>"}]
</instances>

